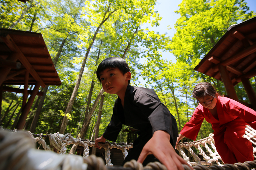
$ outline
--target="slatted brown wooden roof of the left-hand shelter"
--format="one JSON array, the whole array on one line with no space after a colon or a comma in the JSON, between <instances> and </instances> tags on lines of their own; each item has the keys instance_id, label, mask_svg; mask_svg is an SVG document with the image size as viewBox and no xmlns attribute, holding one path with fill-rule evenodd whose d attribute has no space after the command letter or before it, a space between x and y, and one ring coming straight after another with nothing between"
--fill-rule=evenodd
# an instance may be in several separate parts
<instances>
[{"instance_id":1,"label":"slatted brown wooden roof of the left-hand shelter","mask_svg":"<svg viewBox=\"0 0 256 170\"><path fill-rule=\"evenodd\" d=\"M9 62L12 55L16 62ZM29 85L61 85L41 33L0 28L0 68L4 66L11 71L3 84L24 85L25 72L29 71Z\"/></svg>"}]
</instances>

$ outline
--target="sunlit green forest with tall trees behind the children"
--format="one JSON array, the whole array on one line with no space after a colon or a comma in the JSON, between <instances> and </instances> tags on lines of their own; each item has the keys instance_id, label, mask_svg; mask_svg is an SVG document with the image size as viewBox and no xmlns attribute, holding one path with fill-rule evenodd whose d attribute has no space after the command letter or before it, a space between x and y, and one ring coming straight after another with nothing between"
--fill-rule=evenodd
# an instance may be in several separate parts
<instances>
[{"instance_id":1,"label":"sunlit green forest with tall trees behind the children","mask_svg":"<svg viewBox=\"0 0 256 170\"><path fill-rule=\"evenodd\" d=\"M156 0L1 0L0 27L42 33L62 82L41 89L44 95L34 100L24 128L90 140L101 136L117 96L101 89L95 71L103 59L114 56L128 62L131 85L156 91L175 116L179 131L198 105L192 97L197 83L211 82L226 95L221 81L193 68L230 25L254 17L255 12L245 0L183 0L175 11L179 18L174 28L167 28L172 35L155 31L162 19L155 9L158 4ZM256 90L256 77L250 81ZM235 90L240 100L250 103L242 83ZM3 127L15 128L21 103L22 94L3 93ZM204 121L197 139L212 132ZM126 141L127 132L121 131L117 143ZM75 146L70 147L74 153Z\"/></svg>"}]
</instances>

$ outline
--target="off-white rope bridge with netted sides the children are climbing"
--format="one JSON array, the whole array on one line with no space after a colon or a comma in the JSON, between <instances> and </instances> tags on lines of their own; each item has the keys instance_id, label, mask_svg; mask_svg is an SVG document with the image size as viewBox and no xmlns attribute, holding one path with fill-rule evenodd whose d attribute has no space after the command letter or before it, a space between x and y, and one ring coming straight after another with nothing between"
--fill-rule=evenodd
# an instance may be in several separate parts
<instances>
[{"instance_id":1,"label":"off-white rope bridge with netted sides the children are climbing","mask_svg":"<svg viewBox=\"0 0 256 170\"><path fill-rule=\"evenodd\" d=\"M52 170L52 169L72 169L72 170L166 170L166 167L160 162L151 162L147 166L143 167L142 164L135 160L126 162L123 167L112 167L110 159L110 149L120 149L124 155L124 159L127 156L127 150L133 147L133 144L117 144L117 143L99 143L98 145L105 149L106 164L101 158L97 158L94 155L89 156L89 147L95 145L94 141L88 139L82 140L80 138L73 138L69 133L66 135L54 133L43 135L32 134L30 131L20 132L15 129L13 133L6 132L3 127L0 126L0 170L6 169L37 169L37 170ZM10 130L9 130L10 131ZM246 127L246 137L254 145L253 141L256 131L251 127ZM34 137L37 136L37 137ZM45 138L49 137L50 145L47 145ZM46 151L34 149L35 143L42 144ZM79 144L84 147L83 156L66 154L67 145ZM210 149L210 147L212 148ZM201 146L205 147L208 151L208 155L203 152ZM195 154L191 147L195 147L203 155L204 161ZM244 163L224 164L222 165L218 160L221 160L216 148L214 146L213 134L209 137L201 139L200 141L185 142L177 145L177 148L184 160L196 170L249 170L256 168L256 161L247 161ZM195 162L190 162L189 157L185 155L183 148L187 149L193 156ZM55 151L57 153L54 153ZM253 148L253 153L256 150ZM216 162L214 164L212 162ZM196 165L196 166L195 166ZM203 166L204 165L204 166ZM205 166L206 165L206 166ZM187 165L183 165L185 170L190 168Z\"/></svg>"}]
</instances>

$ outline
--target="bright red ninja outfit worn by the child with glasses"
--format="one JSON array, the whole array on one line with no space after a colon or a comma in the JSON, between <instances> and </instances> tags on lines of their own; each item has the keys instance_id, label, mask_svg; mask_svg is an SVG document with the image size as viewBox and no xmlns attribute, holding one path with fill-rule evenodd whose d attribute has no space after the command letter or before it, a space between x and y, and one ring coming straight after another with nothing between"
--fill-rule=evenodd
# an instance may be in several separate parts
<instances>
[{"instance_id":1,"label":"bright red ninja outfit worn by the child with glasses","mask_svg":"<svg viewBox=\"0 0 256 170\"><path fill-rule=\"evenodd\" d=\"M217 112L219 120L213 117L209 109L198 105L180 133L196 140L205 118L212 124L215 146L224 163L253 161L252 144L242 136L245 134L246 123L256 129L256 112L235 100L220 96Z\"/></svg>"}]
</instances>

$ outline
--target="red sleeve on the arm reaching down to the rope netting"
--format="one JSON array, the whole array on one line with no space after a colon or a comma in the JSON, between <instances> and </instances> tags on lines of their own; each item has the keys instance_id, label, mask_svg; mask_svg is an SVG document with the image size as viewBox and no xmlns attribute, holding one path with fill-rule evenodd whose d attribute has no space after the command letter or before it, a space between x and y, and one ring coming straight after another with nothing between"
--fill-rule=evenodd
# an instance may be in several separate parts
<instances>
[{"instance_id":1,"label":"red sleeve on the arm reaching down to the rope netting","mask_svg":"<svg viewBox=\"0 0 256 170\"><path fill-rule=\"evenodd\" d=\"M197 107L189 122L182 128L180 134L195 141L203 123L203 119L203 112Z\"/></svg>"}]
</instances>

